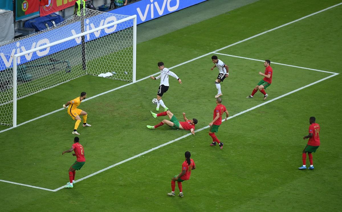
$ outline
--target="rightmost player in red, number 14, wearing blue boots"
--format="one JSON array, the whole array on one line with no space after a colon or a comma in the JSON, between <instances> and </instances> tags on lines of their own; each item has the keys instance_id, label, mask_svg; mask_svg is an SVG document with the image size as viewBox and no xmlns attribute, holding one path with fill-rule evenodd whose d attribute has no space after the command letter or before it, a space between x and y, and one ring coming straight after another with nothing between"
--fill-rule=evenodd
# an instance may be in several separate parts
<instances>
[{"instance_id":1,"label":"rightmost player in red, number 14, wearing blue boots","mask_svg":"<svg viewBox=\"0 0 342 212\"><path fill-rule=\"evenodd\" d=\"M309 139L302 154L303 158L303 166L299 167L298 169L306 169L306 153L309 156L310 160L310 167L308 169L314 169L314 165L312 162L312 153L316 152L320 145L320 140L319 140L319 130L320 126L319 124L316 123L316 118L315 117L310 117L309 119L309 135L304 136L303 139Z\"/></svg>"}]
</instances>

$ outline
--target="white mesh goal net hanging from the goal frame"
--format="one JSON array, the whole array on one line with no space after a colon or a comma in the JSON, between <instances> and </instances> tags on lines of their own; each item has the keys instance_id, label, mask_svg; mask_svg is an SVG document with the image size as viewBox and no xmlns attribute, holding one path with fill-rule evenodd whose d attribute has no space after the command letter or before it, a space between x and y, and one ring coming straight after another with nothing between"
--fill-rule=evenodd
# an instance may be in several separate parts
<instances>
[{"instance_id":1,"label":"white mesh goal net hanging from the goal frame","mask_svg":"<svg viewBox=\"0 0 342 212\"><path fill-rule=\"evenodd\" d=\"M77 77L135 82L136 16L83 9L29 36L0 43L0 124L16 127L16 100Z\"/></svg>"}]
</instances>

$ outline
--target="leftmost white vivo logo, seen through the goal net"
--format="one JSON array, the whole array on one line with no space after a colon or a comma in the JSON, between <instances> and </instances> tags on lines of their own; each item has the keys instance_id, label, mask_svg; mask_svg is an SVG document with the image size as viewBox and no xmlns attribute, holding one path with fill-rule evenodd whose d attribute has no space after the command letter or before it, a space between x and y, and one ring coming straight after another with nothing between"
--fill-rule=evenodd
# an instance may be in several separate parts
<instances>
[{"instance_id":1,"label":"leftmost white vivo logo, seen through the goal net","mask_svg":"<svg viewBox=\"0 0 342 212\"><path fill-rule=\"evenodd\" d=\"M43 46L43 45L46 45L46 44L49 44L49 43L50 43L49 39L44 38L44 39L39 40L37 43L33 42L32 46L30 47L30 49L34 49L34 48L37 48L39 46ZM16 46L17 46L17 48L14 48L12 50L11 55L19 54L21 52L25 52L25 51L29 50L29 49L26 49L25 46L20 46L20 42L17 42ZM39 50L39 51L36 51L36 54L39 57L42 57L42 56L47 55L49 53L49 51L50 51L50 47L42 49L42 50ZM30 54L26 54L24 56L25 56L26 60L29 61L29 60L31 60L32 55L33 55L33 52L31 52ZM0 57L4 61L4 64L5 64L5 66L7 68L12 65L12 62L13 62L13 57L12 56L7 60L5 55L1 52L0 53ZM21 57L17 57L17 64L20 64L20 58Z\"/></svg>"}]
</instances>

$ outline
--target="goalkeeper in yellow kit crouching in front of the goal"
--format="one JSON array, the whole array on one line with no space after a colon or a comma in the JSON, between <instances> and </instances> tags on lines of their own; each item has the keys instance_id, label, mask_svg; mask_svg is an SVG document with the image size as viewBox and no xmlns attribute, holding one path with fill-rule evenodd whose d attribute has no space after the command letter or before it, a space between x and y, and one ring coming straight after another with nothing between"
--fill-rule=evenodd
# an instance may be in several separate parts
<instances>
[{"instance_id":1,"label":"goalkeeper in yellow kit crouching in front of the goal","mask_svg":"<svg viewBox=\"0 0 342 212\"><path fill-rule=\"evenodd\" d=\"M83 116L83 127L91 127L90 124L87 124L87 113L81 109L77 109L78 105L81 104L81 101L83 99L86 99L87 93L82 92L81 95L71 101L68 101L66 104L63 104L63 108L67 108L68 106L68 114L73 118L76 119L75 128L73 131L73 134L80 135L80 133L77 132L78 125L81 123L80 115Z\"/></svg>"}]
</instances>

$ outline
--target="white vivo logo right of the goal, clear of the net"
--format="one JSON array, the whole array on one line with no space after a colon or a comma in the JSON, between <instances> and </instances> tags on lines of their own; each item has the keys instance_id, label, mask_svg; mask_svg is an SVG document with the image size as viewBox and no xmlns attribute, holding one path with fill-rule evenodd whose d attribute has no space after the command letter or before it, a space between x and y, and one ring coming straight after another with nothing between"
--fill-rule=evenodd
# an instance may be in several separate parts
<instances>
[{"instance_id":1,"label":"white vivo logo right of the goal, clear of the net","mask_svg":"<svg viewBox=\"0 0 342 212\"><path fill-rule=\"evenodd\" d=\"M178 7L179 7L179 0L164 0L163 4L161 6L156 1L153 3L154 0L150 0L150 1L151 1L151 4L147 4L146 5L146 9L145 9L144 15L141 12L140 8L136 8L136 11L138 12L138 14L140 16L140 19L143 22L147 18L147 13L148 13L149 9L151 11L151 18L154 18L154 7L156 8L159 16L161 16L164 13L165 6L167 6L167 9L168 9L169 12L173 12L173 11L177 10ZM170 6L170 2L171 1L176 1L176 5L175 6Z\"/></svg>"}]
</instances>

